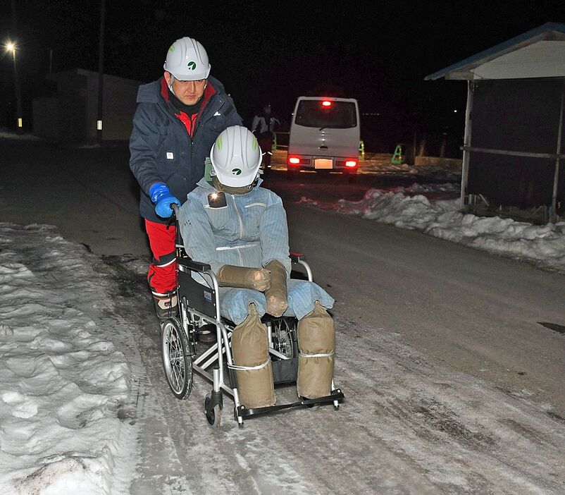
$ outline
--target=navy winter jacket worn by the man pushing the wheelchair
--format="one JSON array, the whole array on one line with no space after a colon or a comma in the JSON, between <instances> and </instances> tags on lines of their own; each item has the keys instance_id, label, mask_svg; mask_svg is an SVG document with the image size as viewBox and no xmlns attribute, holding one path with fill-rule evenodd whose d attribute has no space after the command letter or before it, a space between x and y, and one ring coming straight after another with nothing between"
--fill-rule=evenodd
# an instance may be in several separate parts
<instances>
[{"instance_id":1,"label":"navy winter jacket worn by the man pushing the wheelchair","mask_svg":"<svg viewBox=\"0 0 565 495\"><path fill-rule=\"evenodd\" d=\"M207 101L206 101L207 99ZM137 110L130 137L130 169L141 186L139 212L148 220L166 224L155 213L149 188L156 182L168 185L181 203L204 176L204 161L218 135L230 126L241 126L232 99L220 81L208 78L206 104L192 139L168 101L164 78L139 86Z\"/></svg>"}]
</instances>

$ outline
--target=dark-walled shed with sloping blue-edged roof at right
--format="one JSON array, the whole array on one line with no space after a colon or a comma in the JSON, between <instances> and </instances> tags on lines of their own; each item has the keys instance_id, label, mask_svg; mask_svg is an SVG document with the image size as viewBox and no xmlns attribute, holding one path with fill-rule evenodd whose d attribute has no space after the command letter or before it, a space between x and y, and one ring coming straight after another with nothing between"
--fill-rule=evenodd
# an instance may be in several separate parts
<instances>
[{"instance_id":1,"label":"dark-walled shed with sloping blue-edged roof at right","mask_svg":"<svg viewBox=\"0 0 565 495\"><path fill-rule=\"evenodd\" d=\"M467 81L461 208L565 216L565 24L540 27L437 71Z\"/></svg>"}]
</instances>

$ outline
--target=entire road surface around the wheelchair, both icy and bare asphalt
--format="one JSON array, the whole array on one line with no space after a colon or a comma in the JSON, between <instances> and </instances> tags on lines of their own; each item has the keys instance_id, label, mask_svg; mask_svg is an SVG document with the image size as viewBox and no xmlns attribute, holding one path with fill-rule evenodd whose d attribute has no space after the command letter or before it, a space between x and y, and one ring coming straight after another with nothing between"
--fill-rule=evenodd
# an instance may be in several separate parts
<instances>
[{"instance_id":1,"label":"entire road surface around the wheelchair, both icy and bare asphalt","mask_svg":"<svg viewBox=\"0 0 565 495\"><path fill-rule=\"evenodd\" d=\"M123 154L96 164L85 152L45 154L45 176L35 152L18 155L29 184L1 177L2 220L58 221L99 254L104 239L91 240L108 238L106 256L89 259L130 332L120 348L132 369L120 419L139 428L130 493L564 493L564 336L538 323L563 324L564 276L285 202L292 249L337 301L335 380L347 401L239 429L226 398L214 431L202 412L209 384L197 378L187 401L166 385L147 248L127 227L137 209L128 171L116 166ZM80 181L69 176L77 170ZM298 186L279 187L294 195ZM35 212L25 208L29 189Z\"/></svg>"}]
</instances>

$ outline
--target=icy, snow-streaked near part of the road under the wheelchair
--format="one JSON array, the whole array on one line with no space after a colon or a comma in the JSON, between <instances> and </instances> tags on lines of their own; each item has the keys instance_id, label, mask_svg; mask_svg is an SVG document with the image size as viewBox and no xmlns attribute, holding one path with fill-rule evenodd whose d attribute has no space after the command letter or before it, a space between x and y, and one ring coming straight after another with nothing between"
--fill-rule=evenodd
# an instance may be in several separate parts
<instances>
[{"instance_id":1,"label":"icy, snow-streaked near part of the road under the wheelchair","mask_svg":"<svg viewBox=\"0 0 565 495\"><path fill-rule=\"evenodd\" d=\"M519 394L428 360L402 333L368 326L342 306L336 381L347 403L247 420L225 401L211 429L197 378L187 401L168 391L143 264L106 257L121 287L117 309L134 324L142 369L135 420L141 467L132 493L547 493L565 487L565 422ZM137 276L135 273L137 272ZM136 288L137 285L137 288ZM292 398L292 389L277 391ZM168 491L170 490L170 491Z\"/></svg>"}]
</instances>

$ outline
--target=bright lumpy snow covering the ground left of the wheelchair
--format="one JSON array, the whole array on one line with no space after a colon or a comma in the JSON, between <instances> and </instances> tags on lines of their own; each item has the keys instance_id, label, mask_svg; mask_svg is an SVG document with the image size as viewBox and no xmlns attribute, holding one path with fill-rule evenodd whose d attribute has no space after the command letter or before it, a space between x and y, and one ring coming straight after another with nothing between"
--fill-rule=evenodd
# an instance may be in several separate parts
<instances>
[{"instance_id":1,"label":"bright lumpy snow covering the ground left of the wheelchair","mask_svg":"<svg viewBox=\"0 0 565 495\"><path fill-rule=\"evenodd\" d=\"M129 476L130 369L83 254L0 223L1 493L115 493Z\"/></svg>"}]
</instances>

